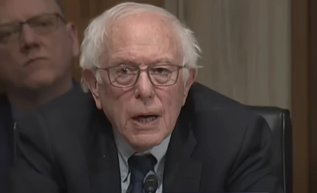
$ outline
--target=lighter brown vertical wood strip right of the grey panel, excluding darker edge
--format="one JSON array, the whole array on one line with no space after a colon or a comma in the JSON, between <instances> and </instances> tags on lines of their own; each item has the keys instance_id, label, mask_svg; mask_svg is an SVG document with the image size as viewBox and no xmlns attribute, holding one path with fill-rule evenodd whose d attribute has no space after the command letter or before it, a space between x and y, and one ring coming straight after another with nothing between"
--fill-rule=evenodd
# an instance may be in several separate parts
<instances>
[{"instance_id":1,"label":"lighter brown vertical wood strip right of the grey panel, excluding darker edge","mask_svg":"<svg viewBox=\"0 0 317 193\"><path fill-rule=\"evenodd\" d=\"M309 192L308 166L308 4L292 0L293 191Z\"/></svg>"}]
</instances>

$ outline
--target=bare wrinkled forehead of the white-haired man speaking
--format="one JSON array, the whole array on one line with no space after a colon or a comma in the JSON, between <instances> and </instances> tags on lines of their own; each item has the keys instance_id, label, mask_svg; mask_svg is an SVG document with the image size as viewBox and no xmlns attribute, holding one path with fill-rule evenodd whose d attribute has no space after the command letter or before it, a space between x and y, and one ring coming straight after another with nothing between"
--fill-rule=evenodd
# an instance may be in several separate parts
<instances>
[{"instance_id":1,"label":"bare wrinkled forehead of the white-haired man speaking","mask_svg":"<svg viewBox=\"0 0 317 193\"><path fill-rule=\"evenodd\" d=\"M124 54L136 48L144 52L170 53L175 57L179 50L172 23L164 16L153 13L125 16L115 21L111 29L109 48L114 53Z\"/></svg>"}]
</instances>

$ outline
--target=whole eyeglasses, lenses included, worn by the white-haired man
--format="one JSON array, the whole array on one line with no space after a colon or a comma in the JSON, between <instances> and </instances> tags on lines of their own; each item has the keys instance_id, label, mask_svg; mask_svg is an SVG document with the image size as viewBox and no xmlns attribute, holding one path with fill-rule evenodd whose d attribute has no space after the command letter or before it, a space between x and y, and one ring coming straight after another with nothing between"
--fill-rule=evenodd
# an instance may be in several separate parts
<instances>
[{"instance_id":1,"label":"whole eyeglasses, lenses included, worn by the white-haired man","mask_svg":"<svg viewBox=\"0 0 317 193\"><path fill-rule=\"evenodd\" d=\"M110 84L122 88L136 84L142 71L146 71L153 85L171 86L177 82L179 70L183 67L178 65L155 65L146 69L139 69L135 66L114 66L97 69L107 71Z\"/></svg>"}]
</instances>

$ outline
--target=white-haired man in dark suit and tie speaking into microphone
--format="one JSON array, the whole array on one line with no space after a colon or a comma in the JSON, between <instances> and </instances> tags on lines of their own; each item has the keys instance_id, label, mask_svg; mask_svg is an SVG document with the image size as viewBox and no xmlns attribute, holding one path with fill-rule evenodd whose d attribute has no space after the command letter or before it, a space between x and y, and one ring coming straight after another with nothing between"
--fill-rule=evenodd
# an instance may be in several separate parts
<instances>
[{"instance_id":1,"label":"white-haired man in dark suit and tie speaking into microphone","mask_svg":"<svg viewBox=\"0 0 317 193\"><path fill-rule=\"evenodd\" d=\"M90 92L18 123L13 192L281 193L268 125L194 83L198 53L164 9L122 3L95 18L81 55Z\"/></svg>"}]
</instances>

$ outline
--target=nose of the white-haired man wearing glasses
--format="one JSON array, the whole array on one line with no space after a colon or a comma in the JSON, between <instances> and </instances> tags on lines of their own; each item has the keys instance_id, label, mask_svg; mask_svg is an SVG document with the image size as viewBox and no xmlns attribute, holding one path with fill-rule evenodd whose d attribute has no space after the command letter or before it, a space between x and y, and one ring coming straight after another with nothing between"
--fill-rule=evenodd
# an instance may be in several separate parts
<instances>
[{"instance_id":1,"label":"nose of the white-haired man wearing glasses","mask_svg":"<svg viewBox=\"0 0 317 193\"><path fill-rule=\"evenodd\" d=\"M136 83L135 97L140 100L151 99L154 96L153 85L146 72L141 72Z\"/></svg>"}]
</instances>

